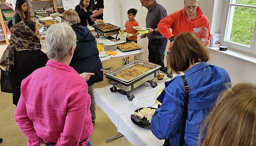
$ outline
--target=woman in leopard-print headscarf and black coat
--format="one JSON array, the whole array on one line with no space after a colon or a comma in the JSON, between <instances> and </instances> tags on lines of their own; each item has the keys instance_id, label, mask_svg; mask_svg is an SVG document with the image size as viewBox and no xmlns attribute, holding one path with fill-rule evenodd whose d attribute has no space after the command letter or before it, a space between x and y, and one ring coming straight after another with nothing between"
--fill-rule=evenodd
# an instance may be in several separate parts
<instances>
[{"instance_id":1,"label":"woman in leopard-print headscarf and black coat","mask_svg":"<svg viewBox=\"0 0 256 146\"><path fill-rule=\"evenodd\" d=\"M21 81L34 70L45 66L48 57L41 51L39 28L23 20L11 28L11 43L1 58L0 65L11 74L13 104L17 106Z\"/></svg>"}]
</instances>

